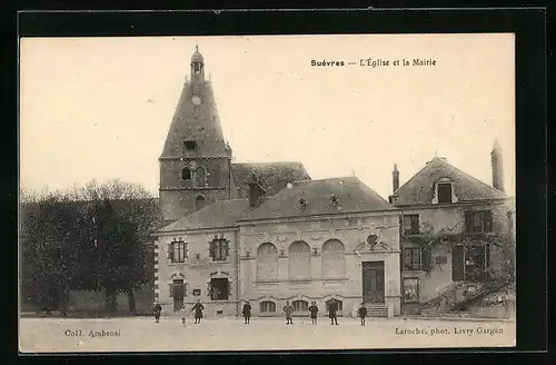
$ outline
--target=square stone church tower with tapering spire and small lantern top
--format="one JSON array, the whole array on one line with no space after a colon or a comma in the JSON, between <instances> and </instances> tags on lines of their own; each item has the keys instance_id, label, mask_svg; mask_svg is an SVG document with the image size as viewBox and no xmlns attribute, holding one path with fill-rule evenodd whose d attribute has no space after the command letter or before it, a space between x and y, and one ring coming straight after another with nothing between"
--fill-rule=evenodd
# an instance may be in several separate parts
<instances>
[{"instance_id":1,"label":"square stone church tower with tapering spire and small lantern top","mask_svg":"<svg viewBox=\"0 0 556 365\"><path fill-rule=\"evenodd\" d=\"M231 198L231 149L224 140L198 47L190 67L159 158L163 219L180 219L207 204Z\"/></svg>"}]
</instances>

